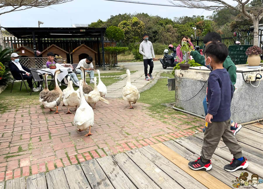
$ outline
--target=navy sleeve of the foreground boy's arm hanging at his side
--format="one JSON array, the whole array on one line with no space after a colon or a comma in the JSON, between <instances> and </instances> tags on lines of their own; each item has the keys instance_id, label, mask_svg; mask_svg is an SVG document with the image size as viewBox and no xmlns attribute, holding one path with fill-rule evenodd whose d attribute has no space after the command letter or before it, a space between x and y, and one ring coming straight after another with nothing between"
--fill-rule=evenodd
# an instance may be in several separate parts
<instances>
[{"instance_id":1,"label":"navy sleeve of the foreground boy's arm hanging at his side","mask_svg":"<svg viewBox=\"0 0 263 189\"><path fill-rule=\"evenodd\" d=\"M217 110L219 108L221 101L221 89L219 86L219 77L211 72L208 78L208 83L209 83L209 89L211 90L212 94L210 97L209 106L207 108L207 113L214 116L217 114Z\"/></svg>"}]
</instances>

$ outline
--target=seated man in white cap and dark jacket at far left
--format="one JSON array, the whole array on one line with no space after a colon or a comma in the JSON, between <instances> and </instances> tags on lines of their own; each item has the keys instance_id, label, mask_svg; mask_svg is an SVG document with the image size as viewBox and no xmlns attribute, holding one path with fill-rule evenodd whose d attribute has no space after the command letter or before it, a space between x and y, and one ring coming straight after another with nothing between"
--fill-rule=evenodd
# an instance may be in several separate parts
<instances>
[{"instance_id":1,"label":"seated man in white cap and dark jacket at far left","mask_svg":"<svg viewBox=\"0 0 263 189\"><path fill-rule=\"evenodd\" d=\"M9 67L9 70L11 71L14 79L22 80L21 75L20 75L20 73L21 73L23 79L27 80L28 87L30 87L30 89L31 89L32 85L33 85L33 83L32 83L33 77L30 73L30 69L28 69L27 67L25 67L19 63L19 55L17 53L11 54L11 60L12 61L10 61L8 63L8 67ZM42 78L42 75L40 75L40 78ZM33 88L33 92L38 92L38 91L40 91L40 89L41 89L40 83L37 82L37 88Z\"/></svg>"}]
</instances>

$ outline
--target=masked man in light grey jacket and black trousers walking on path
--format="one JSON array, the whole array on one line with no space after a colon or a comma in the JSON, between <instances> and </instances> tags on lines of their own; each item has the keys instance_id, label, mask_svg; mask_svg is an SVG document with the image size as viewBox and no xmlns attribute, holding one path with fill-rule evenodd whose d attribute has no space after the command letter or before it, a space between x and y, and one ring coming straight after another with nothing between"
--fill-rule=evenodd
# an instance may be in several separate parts
<instances>
[{"instance_id":1,"label":"masked man in light grey jacket and black trousers walking on path","mask_svg":"<svg viewBox=\"0 0 263 189\"><path fill-rule=\"evenodd\" d=\"M143 34L143 42L141 42L140 48L139 48L139 53L143 55L144 74L145 74L146 81L149 81L150 80L149 78L153 79L153 76L152 76L153 58L155 58L153 44L150 41L148 41L148 39L149 39L148 34L146 33ZM149 73L148 73L148 65L150 66Z\"/></svg>"}]
</instances>

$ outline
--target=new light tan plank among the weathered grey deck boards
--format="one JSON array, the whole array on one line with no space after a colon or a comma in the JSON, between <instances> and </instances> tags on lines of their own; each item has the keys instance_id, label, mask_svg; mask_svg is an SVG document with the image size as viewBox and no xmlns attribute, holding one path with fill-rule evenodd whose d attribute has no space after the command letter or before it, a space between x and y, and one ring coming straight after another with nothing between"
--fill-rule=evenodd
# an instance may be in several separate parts
<instances>
[{"instance_id":1,"label":"new light tan plank among the weathered grey deck boards","mask_svg":"<svg viewBox=\"0 0 263 189\"><path fill-rule=\"evenodd\" d=\"M189 168L188 163L189 161L185 159L184 157L180 156L167 146L165 146L162 143L151 145L157 152L162 154L164 157L172 161L175 165L177 165L180 169L188 173L190 176L195 178L197 181L199 181L201 184L205 185L207 188L214 188L216 183L217 188L228 188L229 186L218 180L217 178L214 178L212 175L205 171L194 171Z\"/></svg>"}]
</instances>

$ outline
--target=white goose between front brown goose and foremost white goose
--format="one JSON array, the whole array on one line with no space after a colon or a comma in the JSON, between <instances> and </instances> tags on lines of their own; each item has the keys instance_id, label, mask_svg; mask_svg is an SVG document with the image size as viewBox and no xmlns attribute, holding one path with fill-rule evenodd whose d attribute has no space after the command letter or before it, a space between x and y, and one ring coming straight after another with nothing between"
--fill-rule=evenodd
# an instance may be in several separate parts
<instances>
[{"instance_id":1,"label":"white goose between front brown goose and foremost white goose","mask_svg":"<svg viewBox=\"0 0 263 189\"><path fill-rule=\"evenodd\" d=\"M79 92L73 89L73 82L70 80L70 76L68 76L68 87L63 90L63 103L65 106L68 106L68 112L66 114L72 114L69 110L69 107L76 107L74 111L77 110L77 106L79 106L80 95Z\"/></svg>"}]
</instances>

